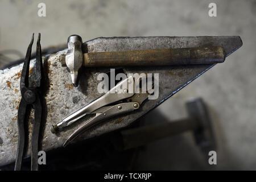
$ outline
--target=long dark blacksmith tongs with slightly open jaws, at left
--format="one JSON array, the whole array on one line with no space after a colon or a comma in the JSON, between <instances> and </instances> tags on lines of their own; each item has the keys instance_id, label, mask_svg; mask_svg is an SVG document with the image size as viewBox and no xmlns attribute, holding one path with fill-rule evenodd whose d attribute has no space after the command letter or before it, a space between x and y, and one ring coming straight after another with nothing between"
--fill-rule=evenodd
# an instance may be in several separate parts
<instances>
[{"instance_id":1,"label":"long dark blacksmith tongs with slightly open jaws, at left","mask_svg":"<svg viewBox=\"0 0 256 182\"><path fill-rule=\"evenodd\" d=\"M35 71L35 87L28 84L28 75L30 72L31 48L34 42L34 34L30 45L27 48L26 58L24 60L22 74L20 77L20 93L22 99L18 109L18 150L16 154L15 171L21 169L22 159L25 153L25 148L28 146L28 111L30 106L34 107L35 119L33 122L32 137L31 137L31 171L38 170L38 142L40 122L42 119L42 81L43 81L43 63L40 45L40 33L38 34L38 42L36 44L36 71ZM26 145L26 147L25 147Z\"/></svg>"}]
</instances>

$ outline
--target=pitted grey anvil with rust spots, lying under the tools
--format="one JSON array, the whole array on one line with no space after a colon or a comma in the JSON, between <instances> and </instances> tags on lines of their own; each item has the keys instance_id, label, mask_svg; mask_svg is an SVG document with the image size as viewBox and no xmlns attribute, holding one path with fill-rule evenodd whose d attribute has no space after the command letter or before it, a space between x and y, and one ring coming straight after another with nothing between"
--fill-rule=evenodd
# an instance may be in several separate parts
<instances>
[{"instance_id":1,"label":"pitted grey anvil with rust spots, lying under the tools","mask_svg":"<svg viewBox=\"0 0 256 182\"><path fill-rule=\"evenodd\" d=\"M82 44L86 53L93 52L118 52L148 49L171 49L171 48L193 48L193 47L222 47L225 57L242 46L239 36L193 36L193 37L114 37L96 38ZM84 53L84 52L83 52ZM42 150L48 151L53 148L62 147L65 139L79 127L79 123L72 126L59 135L51 133L51 127L61 121L64 117L87 105L99 96L95 92L97 88L97 75L106 72L106 68L81 68L83 74L80 76L80 84L74 88L68 84L70 75L66 68L61 67L60 61L67 49L43 57L43 64L47 67L48 90L46 94L47 116L46 126L43 130ZM65 60L65 59L64 59ZM230 60L231 61L231 60ZM31 66L35 60L31 60ZM208 71L215 64L197 65L165 65L160 67L127 67L123 72L129 73L159 73L159 97L156 100L146 101L141 109L135 113L121 115L118 118L100 123L92 127L77 140L84 140L97 135L120 129L137 120L148 111L154 109L167 98L188 85L195 78ZM17 111L19 105L19 76L23 64L16 65L10 69L0 71L0 165L14 162L18 142L18 128L16 125ZM84 72L86 69L86 72ZM35 69L34 69L35 70ZM31 69L31 79L34 79L34 72ZM32 81L31 80L31 81ZM31 118L33 119L33 118ZM87 119L87 118L85 118ZM81 121L82 122L82 121ZM30 126L29 126L30 127ZM28 151L27 156L30 155Z\"/></svg>"}]
</instances>

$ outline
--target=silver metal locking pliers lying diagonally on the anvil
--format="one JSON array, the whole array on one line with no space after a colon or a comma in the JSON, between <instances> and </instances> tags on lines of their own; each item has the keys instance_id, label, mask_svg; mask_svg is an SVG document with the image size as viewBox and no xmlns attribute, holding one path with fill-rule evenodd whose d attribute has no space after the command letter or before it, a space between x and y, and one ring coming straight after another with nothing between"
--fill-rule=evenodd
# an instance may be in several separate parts
<instances>
[{"instance_id":1,"label":"silver metal locking pliers lying diagonally on the anvil","mask_svg":"<svg viewBox=\"0 0 256 182\"><path fill-rule=\"evenodd\" d=\"M152 94L152 92L141 93L139 83L139 80L135 80L133 76L120 81L103 96L68 115L68 117L65 117L61 122L57 123L57 125L53 125L52 133L55 133L57 130L62 129L65 126L71 125L71 123L77 121L87 114L96 114L93 118L89 119L89 121L83 123L76 131L74 131L73 134L71 134L71 136L69 136L69 138L63 144L65 147L69 142L78 137L86 129L96 125L98 122L116 115L129 113L139 109L142 102L146 100L150 94ZM127 85L127 87L123 85Z\"/></svg>"}]
</instances>

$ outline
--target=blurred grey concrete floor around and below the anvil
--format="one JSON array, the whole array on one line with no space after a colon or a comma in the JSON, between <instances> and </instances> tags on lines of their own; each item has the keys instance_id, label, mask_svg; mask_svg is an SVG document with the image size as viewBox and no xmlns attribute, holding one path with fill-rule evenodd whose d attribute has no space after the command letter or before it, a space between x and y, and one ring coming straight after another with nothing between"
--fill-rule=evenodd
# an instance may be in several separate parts
<instances>
[{"instance_id":1,"label":"blurred grey concrete floor around and below the anvil","mask_svg":"<svg viewBox=\"0 0 256 182\"><path fill-rule=\"evenodd\" d=\"M38 3L46 3L46 17ZM32 32L41 32L42 47L99 36L239 35L243 46L152 111L152 123L187 116L185 101L202 97L210 109L217 138L217 165L201 155L191 133L144 147L137 169L256 169L256 1L214 1L217 17L208 16L212 1L18 1L0 2L0 52L23 55ZM8 55L19 59L19 55ZM1 66L1 65L0 65Z\"/></svg>"}]
</instances>

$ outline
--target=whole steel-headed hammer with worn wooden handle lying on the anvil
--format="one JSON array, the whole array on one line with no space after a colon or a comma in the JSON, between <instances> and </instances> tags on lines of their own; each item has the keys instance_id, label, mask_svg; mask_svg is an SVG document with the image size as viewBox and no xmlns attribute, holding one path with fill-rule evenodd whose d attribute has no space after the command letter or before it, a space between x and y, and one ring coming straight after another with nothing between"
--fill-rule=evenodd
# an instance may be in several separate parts
<instances>
[{"instance_id":1,"label":"whole steel-headed hammer with worn wooden handle lying on the anvil","mask_svg":"<svg viewBox=\"0 0 256 182\"><path fill-rule=\"evenodd\" d=\"M185 64L215 64L225 60L224 48L220 46L144 49L114 52L83 52L82 38L68 38L65 64L69 68L72 84L77 86L79 69L85 67L145 67Z\"/></svg>"}]
</instances>

